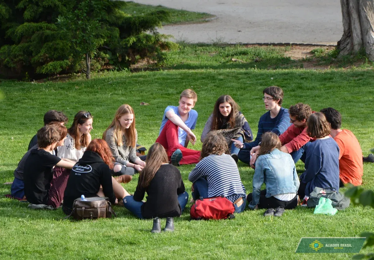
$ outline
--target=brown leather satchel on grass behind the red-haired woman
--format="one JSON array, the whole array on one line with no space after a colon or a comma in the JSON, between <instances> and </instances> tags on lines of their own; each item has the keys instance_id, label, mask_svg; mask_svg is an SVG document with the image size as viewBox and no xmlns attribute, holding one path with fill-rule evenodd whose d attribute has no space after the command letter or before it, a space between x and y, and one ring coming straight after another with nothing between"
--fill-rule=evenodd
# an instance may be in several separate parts
<instances>
[{"instance_id":1,"label":"brown leather satchel on grass behind the red-haired woman","mask_svg":"<svg viewBox=\"0 0 374 260\"><path fill-rule=\"evenodd\" d=\"M111 207L108 197L77 198L73 203L73 211L66 218L74 219L98 219L100 217L117 216Z\"/></svg>"}]
</instances>

